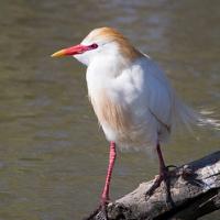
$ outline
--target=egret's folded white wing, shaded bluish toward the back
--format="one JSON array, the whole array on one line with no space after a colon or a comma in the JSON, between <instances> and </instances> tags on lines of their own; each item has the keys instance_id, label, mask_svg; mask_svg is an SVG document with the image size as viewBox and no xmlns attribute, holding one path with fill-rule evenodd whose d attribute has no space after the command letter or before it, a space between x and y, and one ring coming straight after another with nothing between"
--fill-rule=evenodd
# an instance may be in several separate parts
<instances>
[{"instance_id":1,"label":"egret's folded white wing, shaded bluish toward the back","mask_svg":"<svg viewBox=\"0 0 220 220\"><path fill-rule=\"evenodd\" d=\"M136 116L153 116L168 131L172 125L173 90L163 70L148 57L124 70L113 84L117 102Z\"/></svg>"}]
</instances>

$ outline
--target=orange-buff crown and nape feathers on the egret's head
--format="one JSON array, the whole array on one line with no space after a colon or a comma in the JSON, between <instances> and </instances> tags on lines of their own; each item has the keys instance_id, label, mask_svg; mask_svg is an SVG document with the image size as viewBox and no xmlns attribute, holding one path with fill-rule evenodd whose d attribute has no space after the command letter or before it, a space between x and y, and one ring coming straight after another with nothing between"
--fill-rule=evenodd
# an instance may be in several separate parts
<instances>
[{"instance_id":1,"label":"orange-buff crown and nape feathers on the egret's head","mask_svg":"<svg viewBox=\"0 0 220 220\"><path fill-rule=\"evenodd\" d=\"M100 28L95 29L92 32L89 33L87 36L91 41L98 38L108 40L109 42L117 42L119 44L119 48L121 54L124 58L128 58L129 61L134 61L135 58L142 57L143 54L140 53L135 47L132 46L130 41L124 37L120 32L118 32L116 29L112 28Z\"/></svg>"}]
</instances>

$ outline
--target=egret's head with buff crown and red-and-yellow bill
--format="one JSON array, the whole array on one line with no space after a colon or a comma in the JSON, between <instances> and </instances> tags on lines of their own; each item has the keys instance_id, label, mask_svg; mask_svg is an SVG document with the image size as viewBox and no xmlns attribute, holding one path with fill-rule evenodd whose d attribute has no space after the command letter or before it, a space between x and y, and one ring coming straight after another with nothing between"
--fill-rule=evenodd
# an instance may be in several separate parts
<instances>
[{"instance_id":1,"label":"egret's head with buff crown and red-and-yellow bill","mask_svg":"<svg viewBox=\"0 0 220 220\"><path fill-rule=\"evenodd\" d=\"M133 61L142 54L117 30L100 28L91 31L80 44L63 48L52 54L52 57L74 56L82 64L89 65L95 57L107 55L121 55Z\"/></svg>"}]
</instances>

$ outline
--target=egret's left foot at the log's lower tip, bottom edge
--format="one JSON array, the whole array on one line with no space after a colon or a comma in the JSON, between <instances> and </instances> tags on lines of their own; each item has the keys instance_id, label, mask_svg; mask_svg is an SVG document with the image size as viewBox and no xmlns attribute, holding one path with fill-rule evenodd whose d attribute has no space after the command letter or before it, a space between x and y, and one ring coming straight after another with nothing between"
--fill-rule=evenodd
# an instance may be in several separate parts
<instances>
[{"instance_id":1,"label":"egret's left foot at the log's lower tip, bottom edge","mask_svg":"<svg viewBox=\"0 0 220 220\"><path fill-rule=\"evenodd\" d=\"M109 200L101 200L100 205L89 217L84 218L82 220L108 220L107 206ZM96 218L96 219L95 219Z\"/></svg>"}]
</instances>

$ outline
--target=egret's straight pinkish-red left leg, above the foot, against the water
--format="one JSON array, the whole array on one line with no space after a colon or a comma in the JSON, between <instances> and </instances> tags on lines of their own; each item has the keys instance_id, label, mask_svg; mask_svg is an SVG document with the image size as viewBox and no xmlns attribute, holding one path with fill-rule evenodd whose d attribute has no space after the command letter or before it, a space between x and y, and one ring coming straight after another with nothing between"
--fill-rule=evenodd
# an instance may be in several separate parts
<instances>
[{"instance_id":1,"label":"egret's straight pinkish-red left leg, above the foot, against the water","mask_svg":"<svg viewBox=\"0 0 220 220\"><path fill-rule=\"evenodd\" d=\"M110 142L109 166L108 166L108 172L107 172L107 177L106 177L106 184L105 184L103 191L101 195L102 204L106 204L109 200L109 188L110 188L111 175L112 175L116 157L117 157L116 143Z\"/></svg>"}]
</instances>

